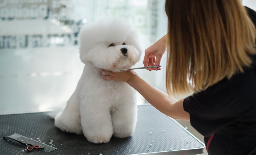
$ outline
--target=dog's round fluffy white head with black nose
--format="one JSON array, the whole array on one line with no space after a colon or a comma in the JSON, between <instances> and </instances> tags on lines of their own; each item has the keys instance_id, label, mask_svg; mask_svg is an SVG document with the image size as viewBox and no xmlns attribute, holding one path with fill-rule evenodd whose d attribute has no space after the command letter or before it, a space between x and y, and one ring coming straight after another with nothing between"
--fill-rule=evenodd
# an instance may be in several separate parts
<instances>
[{"instance_id":1,"label":"dog's round fluffy white head with black nose","mask_svg":"<svg viewBox=\"0 0 256 155\"><path fill-rule=\"evenodd\" d=\"M79 34L80 59L106 70L127 69L141 57L137 32L120 18L105 18L85 25Z\"/></svg>"}]
</instances>

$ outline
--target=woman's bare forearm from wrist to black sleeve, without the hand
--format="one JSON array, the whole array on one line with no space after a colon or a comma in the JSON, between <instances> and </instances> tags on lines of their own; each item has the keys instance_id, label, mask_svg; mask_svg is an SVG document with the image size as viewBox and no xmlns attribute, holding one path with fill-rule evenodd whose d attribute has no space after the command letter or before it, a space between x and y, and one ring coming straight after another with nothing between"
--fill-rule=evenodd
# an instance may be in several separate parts
<instances>
[{"instance_id":1,"label":"woman's bare forearm from wrist to black sleeve, without the hand","mask_svg":"<svg viewBox=\"0 0 256 155\"><path fill-rule=\"evenodd\" d=\"M189 113L184 111L184 99L177 100L159 89L148 84L137 74L128 82L131 87L136 89L151 105L163 114L175 119L189 120Z\"/></svg>"}]
</instances>

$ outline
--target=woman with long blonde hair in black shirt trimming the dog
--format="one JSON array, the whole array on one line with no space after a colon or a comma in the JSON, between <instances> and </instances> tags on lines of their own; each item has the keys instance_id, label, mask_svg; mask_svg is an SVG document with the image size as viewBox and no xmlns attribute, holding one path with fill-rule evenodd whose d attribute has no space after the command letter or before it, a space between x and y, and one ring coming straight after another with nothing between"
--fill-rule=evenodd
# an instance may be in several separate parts
<instances>
[{"instance_id":1,"label":"woman with long blonde hair in black shirt trimming the dog","mask_svg":"<svg viewBox=\"0 0 256 155\"><path fill-rule=\"evenodd\" d=\"M132 70L103 70L109 76L102 77L124 81L163 114L190 121L209 155L256 155L256 12L240 0L166 0L165 12L168 33L145 50L144 65L160 65L167 47L168 94L194 94L177 100Z\"/></svg>"}]
</instances>

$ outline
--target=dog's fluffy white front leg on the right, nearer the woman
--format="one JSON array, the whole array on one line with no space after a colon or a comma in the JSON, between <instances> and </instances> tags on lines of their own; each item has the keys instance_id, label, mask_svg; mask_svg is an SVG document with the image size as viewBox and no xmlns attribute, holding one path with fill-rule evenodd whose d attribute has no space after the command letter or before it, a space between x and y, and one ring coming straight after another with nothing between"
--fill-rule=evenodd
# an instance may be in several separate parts
<instances>
[{"instance_id":1,"label":"dog's fluffy white front leg on the right, nearer the woman","mask_svg":"<svg viewBox=\"0 0 256 155\"><path fill-rule=\"evenodd\" d=\"M128 100L129 102L129 100ZM137 122L136 103L124 103L112 113L114 137L125 138L133 134Z\"/></svg>"}]
</instances>

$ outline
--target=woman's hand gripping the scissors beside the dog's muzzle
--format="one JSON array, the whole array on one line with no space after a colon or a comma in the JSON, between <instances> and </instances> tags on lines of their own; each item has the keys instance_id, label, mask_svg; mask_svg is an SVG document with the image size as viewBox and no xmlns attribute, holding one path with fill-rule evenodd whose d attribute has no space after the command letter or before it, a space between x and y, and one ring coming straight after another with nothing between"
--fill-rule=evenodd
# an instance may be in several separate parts
<instances>
[{"instance_id":1,"label":"woman's hand gripping the scissors beside the dog's muzzle","mask_svg":"<svg viewBox=\"0 0 256 155\"><path fill-rule=\"evenodd\" d=\"M166 50L166 35L145 50L144 66L160 66L161 58ZM147 68L147 70L161 70L161 68Z\"/></svg>"}]
</instances>

